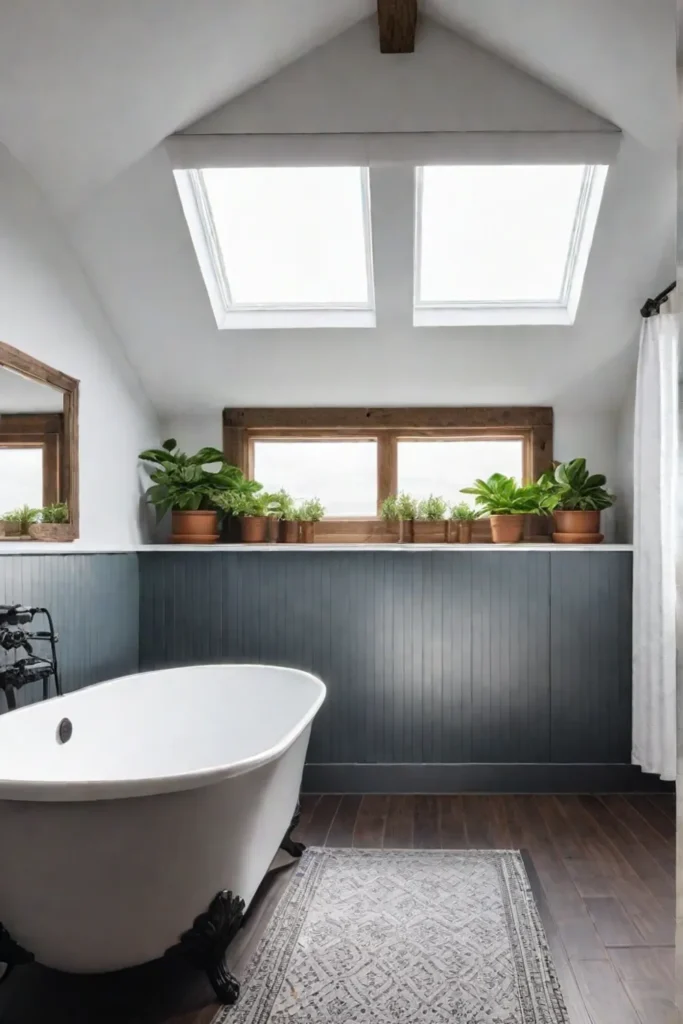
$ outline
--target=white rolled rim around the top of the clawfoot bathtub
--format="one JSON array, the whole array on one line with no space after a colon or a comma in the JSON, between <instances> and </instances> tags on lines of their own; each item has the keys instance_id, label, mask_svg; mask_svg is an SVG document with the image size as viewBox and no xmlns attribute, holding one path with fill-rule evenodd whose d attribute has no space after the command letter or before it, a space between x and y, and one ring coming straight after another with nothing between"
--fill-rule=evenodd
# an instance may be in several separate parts
<instances>
[{"instance_id":1,"label":"white rolled rim around the top of the clawfoot bathtub","mask_svg":"<svg viewBox=\"0 0 683 1024\"><path fill-rule=\"evenodd\" d=\"M93 683L85 687L88 691L109 687L124 679L140 678L144 676L159 675L161 673L180 674L187 670L194 672L215 671L216 669L254 669L272 670L283 675L303 676L315 684L317 695L311 702L306 714L299 719L297 724L285 733L281 739L272 746L250 758L243 758L229 764L213 765L210 768L198 768L195 771L182 772L176 775L152 775L145 777L122 778L122 779L94 779L94 780L69 780L63 779L7 779L0 776L0 802L28 802L28 803L83 803L105 800L123 800L135 797L153 797L163 794L181 793L187 790L199 790L205 785L215 785L228 778L244 775L263 765L269 764L282 757L292 744L299 738L302 732L308 728L315 718L321 706L327 695L327 687L318 676L307 672L304 669L293 669L281 665L261 665L257 663L243 664L240 662L212 663L210 665L184 665L175 666L170 669L151 669L147 672L131 673L127 676L116 676L114 679L104 679L100 683ZM52 697L50 706L60 707L56 701L69 701L81 694L83 690L73 690L62 696ZM45 703L28 705L17 708L15 711L7 713L12 718L16 715L28 715L35 708L44 708ZM58 717L58 714L57 714Z\"/></svg>"}]
</instances>

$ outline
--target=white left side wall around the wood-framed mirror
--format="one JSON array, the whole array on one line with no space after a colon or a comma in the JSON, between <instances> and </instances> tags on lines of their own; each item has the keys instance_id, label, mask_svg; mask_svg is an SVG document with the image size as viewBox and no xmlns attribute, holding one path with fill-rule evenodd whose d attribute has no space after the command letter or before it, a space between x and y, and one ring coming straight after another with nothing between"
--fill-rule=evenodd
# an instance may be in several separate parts
<instances>
[{"instance_id":1,"label":"white left side wall around the wood-framed mirror","mask_svg":"<svg viewBox=\"0 0 683 1024\"><path fill-rule=\"evenodd\" d=\"M138 543L137 454L158 440L156 417L63 230L4 147L0 322L3 341L81 381L79 543Z\"/></svg>"}]
</instances>

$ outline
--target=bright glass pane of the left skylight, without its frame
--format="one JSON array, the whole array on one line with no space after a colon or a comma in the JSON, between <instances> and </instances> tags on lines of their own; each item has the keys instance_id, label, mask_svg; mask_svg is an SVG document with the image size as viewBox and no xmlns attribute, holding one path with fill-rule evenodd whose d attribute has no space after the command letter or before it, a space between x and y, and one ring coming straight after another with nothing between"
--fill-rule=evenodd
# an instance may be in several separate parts
<instances>
[{"instance_id":1,"label":"bright glass pane of the left skylight, without its frame","mask_svg":"<svg viewBox=\"0 0 683 1024\"><path fill-rule=\"evenodd\" d=\"M369 303L361 168L201 173L232 303Z\"/></svg>"}]
</instances>

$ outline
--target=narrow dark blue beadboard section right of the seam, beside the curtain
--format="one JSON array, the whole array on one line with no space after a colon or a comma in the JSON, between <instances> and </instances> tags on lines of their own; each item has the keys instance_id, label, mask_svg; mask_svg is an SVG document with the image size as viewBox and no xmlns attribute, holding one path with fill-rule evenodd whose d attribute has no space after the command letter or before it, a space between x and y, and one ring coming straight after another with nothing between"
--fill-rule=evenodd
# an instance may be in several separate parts
<instances>
[{"instance_id":1,"label":"narrow dark blue beadboard section right of the seam, beside the curtain","mask_svg":"<svg viewBox=\"0 0 683 1024\"><path fill-rule=\"evenodd\" d=\"M551 760L631 760L629 552L551 558Z\"/></svg>"}]
</instances>

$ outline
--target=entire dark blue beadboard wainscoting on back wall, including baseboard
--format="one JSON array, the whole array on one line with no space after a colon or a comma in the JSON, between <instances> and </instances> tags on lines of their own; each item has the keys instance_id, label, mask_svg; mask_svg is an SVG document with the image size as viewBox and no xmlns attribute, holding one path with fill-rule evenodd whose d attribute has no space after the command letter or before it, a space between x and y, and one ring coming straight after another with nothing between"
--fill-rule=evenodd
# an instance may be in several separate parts
<instances>
[{"instance_id":1,"label":"entire dark blue beadboard wainscoting on back wall, including baseboard","mask_svg":"<svg viewBox=\"0 0 683 1024\"><path fill-rule=\"evenodd\" d=\"M327 683L308 792L656 784L629 764L630 551L138 557L141 669L271 663Z\"/></svg>"}]
</instances>

